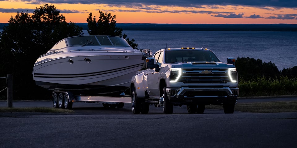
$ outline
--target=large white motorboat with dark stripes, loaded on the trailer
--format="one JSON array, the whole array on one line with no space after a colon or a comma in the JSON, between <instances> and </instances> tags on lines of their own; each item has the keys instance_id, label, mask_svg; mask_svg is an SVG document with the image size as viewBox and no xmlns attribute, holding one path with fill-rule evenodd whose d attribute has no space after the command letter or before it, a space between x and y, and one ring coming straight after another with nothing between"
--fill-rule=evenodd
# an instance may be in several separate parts
<instances>
[{"instance_id":1,"label":"large white motorboat with dark stripes, loaded on the trailer","mask_svg":"<svg viewBox=\"0 0 297 148\"><path fill-rule=\"evenodd\" d=\"M131 77L150 55L118 36L68 37L37 59L32 75L37 85L54 92L117 95L129 88Z\"/></svg>"}]
</instances>

